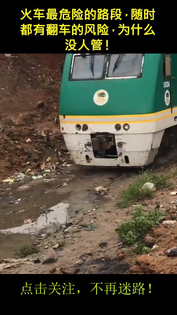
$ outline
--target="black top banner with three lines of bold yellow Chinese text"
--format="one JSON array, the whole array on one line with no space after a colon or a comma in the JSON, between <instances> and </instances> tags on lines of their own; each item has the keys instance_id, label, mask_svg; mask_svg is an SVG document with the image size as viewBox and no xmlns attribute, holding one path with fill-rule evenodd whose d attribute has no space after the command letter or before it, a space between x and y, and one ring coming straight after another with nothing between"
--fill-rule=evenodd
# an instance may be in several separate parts
<instances>
[{"instance_id":1,"label":"black top banner with three lines of bold yellow Chinese text","mask_svg":"<svg viewBox=\"0 0 177 315\"><path fill-rule=\"evenodd\" d=\"M160 53L174 47L172 8L167 14L154 5L135 8L117 3L105 4L105 8L68 7L68 3L63 7L52 4L53 9L43 3L5 6L0 21L1 50L7 52Z\"/></svg>"}]
</instances>

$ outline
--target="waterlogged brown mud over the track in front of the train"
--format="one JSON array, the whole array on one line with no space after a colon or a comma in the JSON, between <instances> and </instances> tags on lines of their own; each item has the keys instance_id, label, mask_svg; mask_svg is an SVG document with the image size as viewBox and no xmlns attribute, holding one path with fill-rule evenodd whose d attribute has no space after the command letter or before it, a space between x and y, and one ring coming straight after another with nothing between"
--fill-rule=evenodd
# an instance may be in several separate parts
<instances>
[{"instance_id":1,"label":"waterlogged brown mud over the track in front of the train","mask_svg":"<svg viewBox=\"0 0 177 315\"><path fill-rule=\"evenodd\" d=\"M79 178L78 174L81 174ZM76 229L74 222L83 218L84 223L90 224L87 214L96 209L104 209L104 204L106 211L110 211L112 203L109 205L109 202L113 196L97 195L95 188L109 188L121 176L122 171L119 169L82 168L80 172L80 167L76 167L74 174L63 172L62 176L54 175L49 182L39 179L22 184L1 185L0 261L15 258L16 251L24 244L41 239L45 243L46 235L51 233L55 237L60 226L72 224L72 231ZM73 181L68 185L54 189L70 180ZM121 183L120 179L116 185L121 187ZM102 220L105 220L104 215ZM81 240L83 246L87 242L87 234L90 232L86 232L85 239ZM42 249L41 254L48 254L48 250Z\"/></svg>"}]
</instances>

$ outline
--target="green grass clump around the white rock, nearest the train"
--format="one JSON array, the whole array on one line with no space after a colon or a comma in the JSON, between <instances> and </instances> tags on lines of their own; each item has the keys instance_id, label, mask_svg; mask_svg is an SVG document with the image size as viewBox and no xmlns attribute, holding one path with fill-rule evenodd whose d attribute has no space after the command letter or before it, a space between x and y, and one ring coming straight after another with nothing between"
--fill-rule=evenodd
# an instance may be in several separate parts
<instances>
[{"instance_id":1,"label":"green grass clump around the white rock, nearest the train","mask_svg":"<svg viewBox=\"0 0 177 315\"><path fill-rule=\"evenodd\" d=\"M153 192L148 187L142 188L146 182L153 183L156 189L172 188L174 186L173 182L170 180L172 176L174 176L174 174L164 175L162 173L153 173L150 171L139 175L127 189L121 192L117 206L119 208L126 208L133 202L152 195Z\"/></svg>"}]
</instances>

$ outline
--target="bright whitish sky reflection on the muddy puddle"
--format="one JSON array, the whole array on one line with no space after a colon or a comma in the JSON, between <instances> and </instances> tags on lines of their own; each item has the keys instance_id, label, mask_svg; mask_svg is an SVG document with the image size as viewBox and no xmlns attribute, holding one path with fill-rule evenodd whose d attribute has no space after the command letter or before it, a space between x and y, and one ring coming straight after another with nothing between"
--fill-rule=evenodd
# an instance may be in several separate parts
<instances>
[{"instance_id":1,"label":"bright whitish sky reflection on the muddy puddle","mask_svg":"<svg viewBox=\"0 0 177 315\"><path fill-rule=\"evenodd\" d=\"M37 234L43 229L52 229L57 225L63 225L68 221L69 203L58 203L49 208L48 213L40 215L35 222L23 224L6 230L0 230L3 234L20 233L20 234Z\"/></svg>"}]
</instances>

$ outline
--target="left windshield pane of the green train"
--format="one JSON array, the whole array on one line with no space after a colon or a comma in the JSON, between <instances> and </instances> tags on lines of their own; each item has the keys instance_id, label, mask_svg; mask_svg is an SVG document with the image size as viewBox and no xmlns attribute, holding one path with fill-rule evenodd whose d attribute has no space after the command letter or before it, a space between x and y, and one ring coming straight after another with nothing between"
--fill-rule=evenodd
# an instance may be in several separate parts
<instances>
[{"instance_id":1,"label":"left windshield pane of the green train","mask_svg":"<svg viewBox=\"0 0 177 315\"><path fill-rule=\"evenodd\" d=\"M102 78L105 55L76 55L74 57L72 79Z\"/></svg>"}]
</instances>

